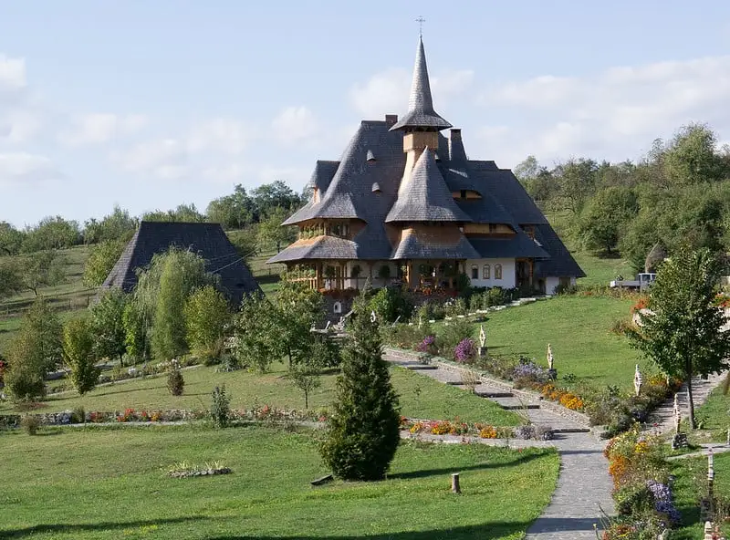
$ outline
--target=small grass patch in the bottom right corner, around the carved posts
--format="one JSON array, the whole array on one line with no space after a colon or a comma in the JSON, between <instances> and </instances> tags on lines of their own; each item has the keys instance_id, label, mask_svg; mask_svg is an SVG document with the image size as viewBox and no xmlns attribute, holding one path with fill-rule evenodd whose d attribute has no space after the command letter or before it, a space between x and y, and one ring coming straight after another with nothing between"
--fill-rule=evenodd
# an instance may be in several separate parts
<instances>
[{"instance_id":1,"label":"small grass patch in the bottom right corner, around the carved posts","mask_svg":"<svg viewBox=\"0 0 730 540\"><path fill-rule=\"evenodd\" d=\"M694 477L706 478L707 458L692 458L673 462L674 501L682 512L683 527L675 531L673 540L695 540L702 538L703 523L700 523L699 496L700 490ZM704 481L706 482L706 480ZM704 493L704 492L703 492ZM718 453L714 456L714 493L730 500L730 453ZM725 535L730 534L730 526L723 528Z\"/></svg>"}]
</instances>

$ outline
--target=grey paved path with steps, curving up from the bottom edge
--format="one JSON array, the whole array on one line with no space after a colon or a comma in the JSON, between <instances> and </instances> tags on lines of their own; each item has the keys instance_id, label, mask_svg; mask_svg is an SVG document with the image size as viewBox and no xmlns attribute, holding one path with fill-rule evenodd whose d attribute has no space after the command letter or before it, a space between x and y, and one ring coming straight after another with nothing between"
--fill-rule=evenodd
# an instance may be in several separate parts
<instances>
[{"instance_id":1,"label":"grey paved path with steps, curving up from the bottom edge","mask_svg":"<svg viewBox=\"0 0 730 540\"><path fill-rule=\"evenodd\" d=\"M383 358L432 379L460 386L461 377L454 371L391 356L387 351ZM482 383L476 387L476 392L506 409L515 410L517 407L517 413L526 415L537 425L548 425L558 430L585 427L556 412L541 409L539 400L520 400L504 388ZM608 472L609 464L603 457L606 442L599 441L590 432L564 432L557 433L552 443L560 455L558 487L543 514L527 530L527 540L595 540L593 524L600 528L601 509L606 514L613 514L610 496L613 483Z\"/></svg>"}]
</instances>

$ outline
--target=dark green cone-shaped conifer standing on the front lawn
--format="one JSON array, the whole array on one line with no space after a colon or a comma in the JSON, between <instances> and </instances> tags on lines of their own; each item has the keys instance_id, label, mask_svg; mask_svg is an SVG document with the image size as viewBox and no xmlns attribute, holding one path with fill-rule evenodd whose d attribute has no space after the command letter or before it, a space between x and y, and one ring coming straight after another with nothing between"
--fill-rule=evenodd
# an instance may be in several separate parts
<instances>
[{"instance_id":1,"label":"dark green cone-shaped conifer standing on the front lawn","mask_svg":"<svg viewBox=\"0 0 730 540\"><path fill-rule=\"evenodd\" d=\"M320 452L344 480L381 480L398 448L398 396L382 359L378 322L362 308L365 302L358 305Z\"/></svg>"}]
</instances>

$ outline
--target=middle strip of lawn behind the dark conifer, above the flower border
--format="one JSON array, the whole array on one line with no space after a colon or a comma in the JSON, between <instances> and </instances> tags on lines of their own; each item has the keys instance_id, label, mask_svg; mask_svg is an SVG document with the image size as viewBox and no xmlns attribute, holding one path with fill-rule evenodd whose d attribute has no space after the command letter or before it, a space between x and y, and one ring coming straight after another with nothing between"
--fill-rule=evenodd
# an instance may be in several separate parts
<instances>
[{"instance_id":1,"label":"middle strip of lawn behind the dark conifer, above the flower border","mask_svg":"<svg viewBox=\"0 0 730 540\"><path fill-rule=\"evenodd\" d=\"M39 411L73 410L167 410L197 409L210 407L210 394L214 386L225 384L234 408L251 408L255 404L286 409L304 409L304 395L284 376L286 367L276 363L272 371L259 375L245 370L218 373L214 368L186 369L183 396L172 396L165 377L137 379L94 389L81 397L76 392L54 396L51 394L47 407ZM521 423L520 417L500 409L495 403L479 398L462 389L446 386L433 379L393 367L392 382L401 396L401 413L411 418L429 420L479 421L499 426ZM322 377L322 386L309 397L309 407L317 410L326 407L334 399L335 374ZM13 405L0 404L0 412L11 412Z\"/></svg>"}]
</instances>

